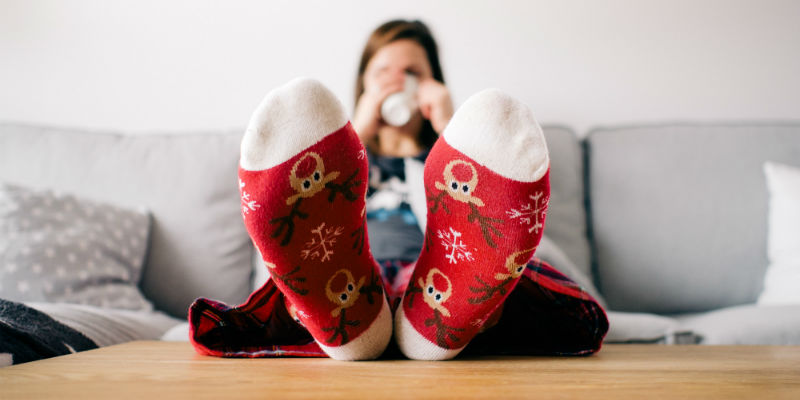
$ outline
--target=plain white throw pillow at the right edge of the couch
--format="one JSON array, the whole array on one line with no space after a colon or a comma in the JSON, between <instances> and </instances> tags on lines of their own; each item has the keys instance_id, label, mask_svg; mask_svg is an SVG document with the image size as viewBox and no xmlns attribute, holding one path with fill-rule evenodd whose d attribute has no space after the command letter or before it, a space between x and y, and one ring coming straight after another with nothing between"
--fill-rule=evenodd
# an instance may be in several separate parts
<instances>
[{"instance_id":1,"label":"plain white throw pillow at the right edge of the couch","mask_svg":"<svg viewBox=\"0 0 800 400\"><path fill-rule=\"evenodd\" d=\"M758 304L800 304L800 168L767 162L764 173L769 267Z\"/></svg>"}]
</instances>

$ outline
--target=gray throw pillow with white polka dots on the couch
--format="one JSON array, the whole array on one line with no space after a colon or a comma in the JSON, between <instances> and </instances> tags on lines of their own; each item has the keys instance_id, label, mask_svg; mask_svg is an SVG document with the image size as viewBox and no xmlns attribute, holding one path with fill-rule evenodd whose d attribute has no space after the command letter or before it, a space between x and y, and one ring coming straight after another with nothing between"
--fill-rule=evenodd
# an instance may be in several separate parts
<instances>
[{"instance_id":1,"label":"gray throw pillow with white polka dots on the couch","mask_svg":"<svg viewBox=\"0 0 800 400\"><path fill-rule=\"evenodd\" d=\"M0 184L0 297L150 310L137 283L150 217Z\"/></svg>"}]
</instances>

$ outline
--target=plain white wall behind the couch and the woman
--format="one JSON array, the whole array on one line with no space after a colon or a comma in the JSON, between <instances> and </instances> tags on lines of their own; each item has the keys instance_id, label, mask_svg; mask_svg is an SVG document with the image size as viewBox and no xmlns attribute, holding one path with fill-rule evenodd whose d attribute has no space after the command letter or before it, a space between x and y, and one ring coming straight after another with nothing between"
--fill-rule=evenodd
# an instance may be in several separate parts
<instances>
[{"instance_id":1,"label":"plain white wall behind the couch and the woman","mask_svg":"<svg viewBox=\"0 0 800 400\"><path fill-rule=\"evenodd\" d=\"M241 128L306 75L352 107L368 33L419 17L456 104L485 87L581 133L800 120L800 1L0 0L0 120L131 132Z\"/></svg>"}]
</instances>

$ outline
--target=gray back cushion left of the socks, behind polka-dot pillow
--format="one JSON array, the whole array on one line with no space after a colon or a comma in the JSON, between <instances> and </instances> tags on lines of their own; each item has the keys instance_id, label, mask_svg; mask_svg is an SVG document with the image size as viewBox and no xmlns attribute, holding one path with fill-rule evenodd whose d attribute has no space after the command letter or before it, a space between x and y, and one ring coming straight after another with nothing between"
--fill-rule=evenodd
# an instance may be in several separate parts
<instances>
[{"instance_id":1,"label":"gray back cushion left of the socks, behind polka-dot pillow","mask_svg":"<svg viewBox=\"0 0 800 400\"><path fill-rule=\"evenodd\" d=\"M185 316L196 297L238 303L250 292L240 140L0 124L0 180L148 208L153 225L140 286L157 308Z\"/></svg>"}]
</instances>

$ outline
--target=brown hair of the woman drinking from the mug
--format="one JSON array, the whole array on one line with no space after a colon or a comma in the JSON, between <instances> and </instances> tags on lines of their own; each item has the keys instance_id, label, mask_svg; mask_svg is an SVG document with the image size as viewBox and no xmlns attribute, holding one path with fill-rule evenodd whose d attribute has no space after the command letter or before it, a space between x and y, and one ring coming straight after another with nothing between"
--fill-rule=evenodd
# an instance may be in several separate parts
<instances>
[{"instance_id":1,"label":"brown hair of the woman drinking from the mug","mask_svg":"<svg viewBox=\"0 0 800 400\"><path fill-rule=\"evenodd\" d=\"M428 63L431 65L433 79L444 84L442 66L439 63L439 51L437 50L436 40L433 39L431 31L422 21L397 19L386 22L375 29L369 36L367 45L364 46L364 52L361 54L361 62L358 64L358 77L356 78L356 103L358 103L361 94L364 93L364 71L367 69L369 60L372 59L381 47L400 39L413 40L422 46L428 57ZM419 134L420 144L426 148L430 148L438 138L439 135L433 130L431 122L425 120L422 124L422 131Z\"/></svg>"}]
</instances>

